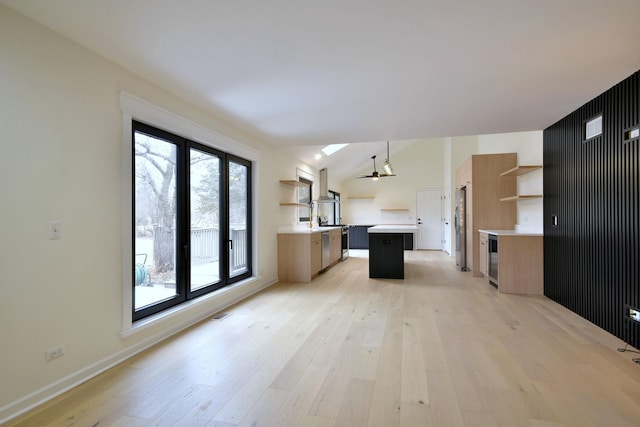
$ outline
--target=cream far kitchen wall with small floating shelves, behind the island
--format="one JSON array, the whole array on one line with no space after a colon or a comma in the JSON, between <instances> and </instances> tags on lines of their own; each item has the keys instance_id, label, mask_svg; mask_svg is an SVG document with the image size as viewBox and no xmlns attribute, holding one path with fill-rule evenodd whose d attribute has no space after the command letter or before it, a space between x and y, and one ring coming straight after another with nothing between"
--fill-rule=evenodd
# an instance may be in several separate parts
<instances>
[{"instance_id":1,"label":"cream far kitchen wall with small floating shelves, behind the island","mask_svg":"<svg viewBox=\"0 0 640 427\"><path fill-rule=\"evenodd\" d=\"M416 190L444 184L444 140L417 140L390 159L397 176L343 181L343 218L347 224L415 224ZM369 173L370 170L363 171ZM373 199L350 199L374 196ZM408 209L387 212L381 209Z\"/></svg>"}]
</instances>

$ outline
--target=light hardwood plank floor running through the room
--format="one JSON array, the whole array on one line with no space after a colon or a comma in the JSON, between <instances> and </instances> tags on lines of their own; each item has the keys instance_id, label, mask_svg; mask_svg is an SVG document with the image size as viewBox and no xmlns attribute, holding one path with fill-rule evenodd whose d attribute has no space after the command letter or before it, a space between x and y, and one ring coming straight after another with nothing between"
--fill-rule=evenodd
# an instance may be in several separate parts
<instances>
[{"instance_id":1,"label":"light hardwood plank floor running through the room","mask_svg":"<svg viewBox=\"0 0 640 427\"><path fill-rule=\"evenodd\" d=\"M441 252L282 283L26 414L28 426L638 426L640 366L558 304Z\"/></svg>"}]
</instances>

